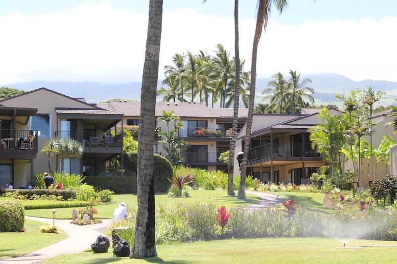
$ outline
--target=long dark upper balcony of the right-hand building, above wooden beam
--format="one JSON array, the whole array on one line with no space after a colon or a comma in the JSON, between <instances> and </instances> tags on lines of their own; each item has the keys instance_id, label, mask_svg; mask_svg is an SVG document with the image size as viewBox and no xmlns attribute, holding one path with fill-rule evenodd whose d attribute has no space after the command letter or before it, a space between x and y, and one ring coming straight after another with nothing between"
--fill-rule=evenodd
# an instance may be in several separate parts
<instances>
[{"instance_id":1,"label":"long dark upper balcony of the right-hand building, above wooden beam","mask_svg":"<svg viewBox=\"0 0 397 264\"><path fill-rule=\"evenodd\" d=\"M313 150L311 144L281 143L273 145L273 153L270 151L271 144L254 147L248 154L249 163L265 162L268 160L321 160L322 155Z\"/></svg>"}]
</instances>

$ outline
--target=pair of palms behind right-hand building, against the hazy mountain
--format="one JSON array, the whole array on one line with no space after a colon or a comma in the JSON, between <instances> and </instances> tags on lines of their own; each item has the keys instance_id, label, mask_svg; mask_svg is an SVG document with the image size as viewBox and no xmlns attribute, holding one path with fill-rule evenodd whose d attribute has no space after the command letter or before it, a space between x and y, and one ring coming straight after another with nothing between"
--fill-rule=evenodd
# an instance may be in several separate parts
<instances>
[{"instance_id":1,"label":"pair of palms behind right-hand building, against the hazy mountain","mask_svg":"<svg viewBox=\"0 0 397 264\"><path fill-rule=\"evenodd\" d=\"M286 81L282 73L277 72L262 91L263 100L270 99L266 111L277 113L297 113L303 107L313 105L314 89L309 87L310 79L301 80L296 71L289 71L290 79Z\"/></svg>"}]
</instances>

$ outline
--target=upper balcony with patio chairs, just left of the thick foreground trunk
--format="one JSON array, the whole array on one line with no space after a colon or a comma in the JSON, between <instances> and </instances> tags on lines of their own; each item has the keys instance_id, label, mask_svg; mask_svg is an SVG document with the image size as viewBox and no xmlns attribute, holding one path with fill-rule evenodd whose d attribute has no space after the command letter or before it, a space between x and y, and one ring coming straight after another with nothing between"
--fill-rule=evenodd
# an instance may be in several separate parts
<instances>
[{"instance_id":1,"label":"upper balcony with patio chairs, just left of the thick foreground trunk","mask_svg":"<svg viewBox=\"0 0 397 264\"><path fill-rule=\"evenodd\" d=\"M83 131L81 136L76 131L56 131L55 136L79 141L84 153L121 153L123 142L121 134L116 136L99 135L96 131Z\"/></svg>"}]
</instances>

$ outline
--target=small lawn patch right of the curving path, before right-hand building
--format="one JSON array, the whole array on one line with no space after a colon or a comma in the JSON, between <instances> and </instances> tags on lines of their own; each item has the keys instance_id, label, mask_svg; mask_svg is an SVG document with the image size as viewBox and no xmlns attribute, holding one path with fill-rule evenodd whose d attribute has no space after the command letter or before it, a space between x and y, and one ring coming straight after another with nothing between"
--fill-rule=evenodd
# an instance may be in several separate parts
<instances>
[{"instance_id":1,"label":"small lawn patch right of the curving path, before right-hand building","mask_svg":"<svg viewBox=\"0 0 397 264\"><path fill-rule=\"evenodd\" d=\"M324 205L326 195L324 193L298 193L298 192L268 192L273 195L280 195L284 200L294 199L296 205L310 210L332 212L333 210Z\"/></svg>"}]
</instances>

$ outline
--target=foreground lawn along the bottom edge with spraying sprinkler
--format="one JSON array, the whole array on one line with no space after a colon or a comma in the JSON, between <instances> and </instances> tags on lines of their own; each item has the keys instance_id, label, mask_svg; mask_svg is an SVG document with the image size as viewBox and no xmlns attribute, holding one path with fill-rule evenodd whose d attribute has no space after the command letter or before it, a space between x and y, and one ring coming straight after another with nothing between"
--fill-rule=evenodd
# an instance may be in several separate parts
<instances>
[{"instance_id":1,"label":"foreground lawn along the bottom edge with spraying sprinkler","mask_svg":"<svg viewBox=\"0 0 397 264\"><path fill-rule=\"evenodd\" d=\"M394 245L391 241L355 240L349 246ZM47 264L100 263L395 263L396 248L335 249L331 238L261 238L157 246L157 258L130 260L91 251L47 260Z\"/></svg>"}]
</instances>

